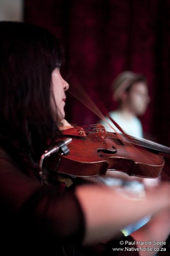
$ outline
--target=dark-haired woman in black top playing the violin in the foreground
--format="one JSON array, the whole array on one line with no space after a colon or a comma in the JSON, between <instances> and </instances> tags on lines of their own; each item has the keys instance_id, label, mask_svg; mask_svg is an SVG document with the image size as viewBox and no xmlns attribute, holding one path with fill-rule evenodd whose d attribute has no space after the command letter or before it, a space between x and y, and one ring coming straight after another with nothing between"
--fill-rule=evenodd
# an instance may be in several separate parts
<instances>
[{"instance_id":1,"label":"dark-haired woman in black top playing the violin in the foreground","mask_svg":"<svg viewBox=\"0 0 170 256\"><path fill-rule=\"evenodd\" d=\"M63 190L63 182L50 179L42 185L40 158L64 124L68 83L60 75L61 47L50 32L33 25L1 22L0 33L2 250L7 255L154 255L170 230L170 185L162 183L139 198L98 185ZM131 236L119 232L148 214L154 218ZM134 251L140 247L136 241L158 243ZM116 251L122 244L131 250Z\"/></svg>"}]
</instances>

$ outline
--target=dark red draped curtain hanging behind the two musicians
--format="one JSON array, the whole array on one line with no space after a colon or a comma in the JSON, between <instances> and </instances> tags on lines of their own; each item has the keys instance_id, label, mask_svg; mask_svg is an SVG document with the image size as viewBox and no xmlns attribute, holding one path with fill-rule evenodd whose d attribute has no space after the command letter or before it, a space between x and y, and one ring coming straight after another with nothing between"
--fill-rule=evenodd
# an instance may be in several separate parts
<instances>
[{"instance_id":1,"label":"dark red draped curtain hanging behind the two musicians","mask_svg":"<svg viewBox=\"0 0 170 256\"><path fill-rule=\"evenodd\" d=\"M65 47L63 76L98 105L115 108L111 82L124 70L144 74L151 103L141 117L145 134L170 146L170 1L25 0L25 21L43 26ZM87 100L88 101L88 100ZM67 93L66 119L99 120Z\"/></svg>"}]
</instances>

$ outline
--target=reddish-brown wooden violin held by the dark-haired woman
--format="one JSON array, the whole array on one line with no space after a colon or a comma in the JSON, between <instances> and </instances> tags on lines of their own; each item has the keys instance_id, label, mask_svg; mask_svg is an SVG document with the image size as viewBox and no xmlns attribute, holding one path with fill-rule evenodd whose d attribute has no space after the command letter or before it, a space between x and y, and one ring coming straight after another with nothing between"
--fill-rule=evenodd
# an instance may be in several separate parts
<instances>
[{"instance_id":1,"label":"reddish-brown wooden violin held by the dark-haired woman","mask_svg":"<svg viewBox=\"0 0 170 256\"><path fill-rule=\"evenodd\" d=\"M119 170L129 176L156 178L165 164L170 148L129 135L106 132L102 124L71 127L59 139L71 138L68 154L57 152L45 159L45 165L72 177L105 176L107 170Z\"/></svg>"}]
</instances>

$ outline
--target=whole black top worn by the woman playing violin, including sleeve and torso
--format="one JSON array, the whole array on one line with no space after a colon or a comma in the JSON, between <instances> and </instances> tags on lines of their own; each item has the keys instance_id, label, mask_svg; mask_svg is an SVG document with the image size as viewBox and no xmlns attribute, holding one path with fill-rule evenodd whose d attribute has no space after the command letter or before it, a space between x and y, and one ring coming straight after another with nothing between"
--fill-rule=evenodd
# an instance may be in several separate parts
<instances>
[{"instance_id":1,"label":"whole black top worn by the woman playing violin, including sleeve and torso","mask_svg":"<svg viewBox=\"0 0 170 256\"><path fill-rule=\"evenodd\" d=\"M6 255L138 255L112 249L131 237L83 248L84 216L73 188L61 193L60 185L42 186L2 148L0 166L1 250Z\"/></svg>"}]
</instances>

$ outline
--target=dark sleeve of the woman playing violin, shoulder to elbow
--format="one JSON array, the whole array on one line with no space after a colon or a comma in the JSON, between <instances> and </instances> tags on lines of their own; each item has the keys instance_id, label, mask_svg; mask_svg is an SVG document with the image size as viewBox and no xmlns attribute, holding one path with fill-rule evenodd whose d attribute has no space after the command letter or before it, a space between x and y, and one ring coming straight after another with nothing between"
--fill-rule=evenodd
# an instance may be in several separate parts
<instances>
[{"instance_id":1,"label":"dark sleeve of the woman playing violin, shoulder to elbow","mask_svg":"<svg viewBox=\"0 0 170 256\"><path fill-rule=\"evenodd\" d=\"M0 207L1 231L8 239L12 232L41 241L83 239L84 216L74 191L61 195L55 186L43 187L6 157L0 158Z\"/></svg>"}]
</instances>

